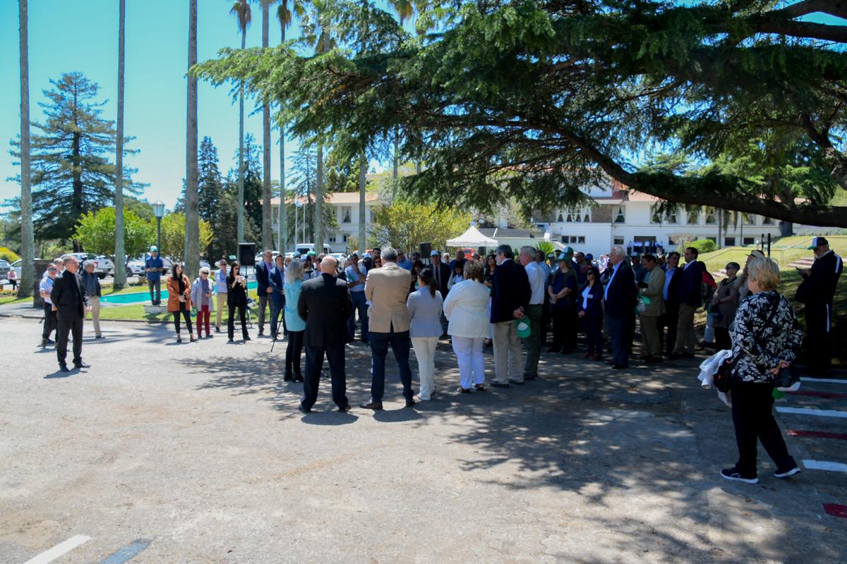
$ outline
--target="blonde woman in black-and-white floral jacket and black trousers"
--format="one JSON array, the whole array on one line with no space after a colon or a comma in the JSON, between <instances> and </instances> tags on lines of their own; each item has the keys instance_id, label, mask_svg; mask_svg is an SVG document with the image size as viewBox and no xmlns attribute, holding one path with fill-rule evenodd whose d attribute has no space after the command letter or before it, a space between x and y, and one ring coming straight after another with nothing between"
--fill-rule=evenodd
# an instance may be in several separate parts
<instances>
[{"instance_id":1,"label":"blonde woman in black-and-white floral jacket and black trousers","mask_svg":"<svg viewBox=\"0 0 847 564\"><path fill-rule=\"evenodd\" d=\"M803 333L791 304L776 290L777 264L767 258L756 259L750 262L747 273L750 295L739 304L729 329L735 362L731 389L739 461L733 468L722 470L721 475L756 484L757 440L777 464L777 478L800 472L773 419L772 392L779 370L794 362Z\"/></svg>"}]
</instances>

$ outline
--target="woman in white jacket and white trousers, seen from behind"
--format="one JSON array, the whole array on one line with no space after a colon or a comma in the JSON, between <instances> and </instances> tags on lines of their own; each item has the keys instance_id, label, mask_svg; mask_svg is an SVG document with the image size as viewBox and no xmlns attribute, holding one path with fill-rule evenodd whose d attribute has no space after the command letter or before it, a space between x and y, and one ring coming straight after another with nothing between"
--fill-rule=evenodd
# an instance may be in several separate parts
<instances>
[{"instance_id":1,"label":"woman in white jacket and white trousers, seen from behind","mask_svg":"<svg viewBox=\"0 0 847 564\"><path fill-rule=\"evenodd\" d=\"M489 332L488 287L479 260L465 262L465 279L454 284L444 300L444 315L450 323L447 333L452 337L453 351L459 364L459 388L468 393L471 386L485 389L485 363L482 347ZM473 381L472 381L473 380Z\"/></svg>"}]
</instances>

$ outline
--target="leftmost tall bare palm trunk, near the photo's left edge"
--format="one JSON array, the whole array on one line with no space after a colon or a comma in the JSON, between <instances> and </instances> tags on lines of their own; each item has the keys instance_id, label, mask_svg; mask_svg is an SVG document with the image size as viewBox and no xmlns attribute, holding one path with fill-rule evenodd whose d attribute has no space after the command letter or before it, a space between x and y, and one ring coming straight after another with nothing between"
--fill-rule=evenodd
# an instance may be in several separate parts
<instances>
[{"instance_id":1,"label":"leftmost tall bare palm trunk, near the photo's left edge","mask_svg":"<svg viewBox=\"0 0 847 564\"><path fill-rule=\"evenodd\" d=\"M30 190L30 62L26 0L19 0L20 47L20 283L18 295L32 295L35 278L35 240L32 233Z\"/></svg>"}]
</instances>

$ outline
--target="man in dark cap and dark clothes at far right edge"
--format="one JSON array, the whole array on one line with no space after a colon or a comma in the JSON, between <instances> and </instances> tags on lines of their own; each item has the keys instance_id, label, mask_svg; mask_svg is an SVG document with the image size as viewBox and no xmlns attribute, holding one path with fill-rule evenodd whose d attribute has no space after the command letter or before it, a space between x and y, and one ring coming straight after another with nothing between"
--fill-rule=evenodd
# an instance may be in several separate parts
<instances>
[{"instance_id":1,"label":"man in dark cap and dark clothes at far right edge","mask_svg":"<svg viewBox=\"0 0 847 564\"><path fill-rule=\"evenodd\" d=\"M800 270L804 278L794 296L805 304L806 347L809 350L809 366L814 375L828 375L833 360L833 344L830 327L833 319L833 296L838 287L844 261L829 249L824 237L811 240L810 250L815 251L815 262L811 268Z\"/></svg>"}]
</instances>

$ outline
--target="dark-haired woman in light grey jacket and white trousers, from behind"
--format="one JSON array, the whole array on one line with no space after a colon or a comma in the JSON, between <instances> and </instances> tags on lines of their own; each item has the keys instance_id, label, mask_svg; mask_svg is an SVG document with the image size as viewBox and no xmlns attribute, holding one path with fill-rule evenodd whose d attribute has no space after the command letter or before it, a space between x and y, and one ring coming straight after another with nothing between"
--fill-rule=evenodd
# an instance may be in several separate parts
<instances>
[{"instance_id":1,"label":"dark-haired woman in light grey jacket and white trousers, from behind","mask_svg":"<svg viewBox=\"0 0 847 564\"><path fill-rule=\"evenodd\" d=\"M418 397L428 401L435 388L435 345L441 336L441 293L435 289L432 271L418 273L418 289L409 294L406 308L409 310L409 337L418 359Z\"/></svg>"}]
</instances>

